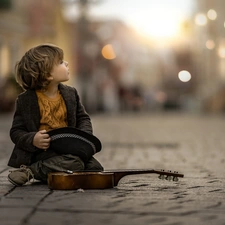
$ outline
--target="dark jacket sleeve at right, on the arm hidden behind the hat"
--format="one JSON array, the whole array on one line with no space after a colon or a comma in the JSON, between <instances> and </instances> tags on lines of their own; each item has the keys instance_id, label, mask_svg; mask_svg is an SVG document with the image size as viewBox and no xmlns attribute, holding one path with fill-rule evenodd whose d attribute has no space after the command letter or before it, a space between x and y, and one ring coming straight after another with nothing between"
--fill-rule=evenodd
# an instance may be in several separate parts
<instances>
[{"instance_id":1,"label":"dark jacket sleeve at right, on the arm hidden behind the hat","mask_svg":"<svg viewBox=\"0 0 225 225\"><path fill-rule=\"evenodd\" d=\"M77 102L77 111L76 111L76 127L80 130L83 130L87 133L92 134L93 128L90 116L86 112L83 104L80 101L80 97L75 89L75 96Z\"/></svg>"}]
</instances>

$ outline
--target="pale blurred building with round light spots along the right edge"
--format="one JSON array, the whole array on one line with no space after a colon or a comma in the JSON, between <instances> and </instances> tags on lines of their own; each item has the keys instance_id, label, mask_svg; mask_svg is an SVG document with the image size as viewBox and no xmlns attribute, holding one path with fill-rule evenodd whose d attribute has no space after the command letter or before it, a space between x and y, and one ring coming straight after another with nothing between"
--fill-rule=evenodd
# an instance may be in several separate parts
<instances>
[{"instance_id":1,"label":"pale blurred building with round light spots along the right edge","mask_svg":"<svg viewBox=\"0 0 225 225\"><path fill-rule=\"evenodd\" d=\"M198 0L194 15L195 61L202 110L225 110L225 1Z\"/></svg>"}]
</instances>

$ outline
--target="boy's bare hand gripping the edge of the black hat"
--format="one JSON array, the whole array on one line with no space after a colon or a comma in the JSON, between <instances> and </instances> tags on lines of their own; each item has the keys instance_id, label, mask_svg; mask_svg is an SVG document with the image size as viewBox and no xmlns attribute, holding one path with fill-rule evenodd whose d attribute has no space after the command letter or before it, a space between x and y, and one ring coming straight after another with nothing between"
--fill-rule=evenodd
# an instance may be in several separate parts
<instances>
[{"instance_id":1,"label":"boy's bare hand gripping the edge of the black hat","mask_svg":"<svg viewBox=\"0 0 225 225\"><path fill-rule=\"evenodd\" d=\"M49 148L50 140L46 130L40 130L34 136L33 145L46 151Z\"/></svg>"}]
</instances>

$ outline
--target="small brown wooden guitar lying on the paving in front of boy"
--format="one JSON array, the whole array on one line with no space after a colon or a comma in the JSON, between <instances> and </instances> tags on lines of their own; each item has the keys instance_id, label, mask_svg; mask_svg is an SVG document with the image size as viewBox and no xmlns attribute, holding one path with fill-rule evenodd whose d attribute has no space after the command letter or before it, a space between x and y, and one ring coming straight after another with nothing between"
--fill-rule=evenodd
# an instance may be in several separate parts
<instances>
[{"instance_id":1,"label":"small brown wooden guitar lying on the paving in front of boy","mask_svg":"<svg viewBox=\"0 0 225 225\"><path fill-rule=\"evenodd\" d=\"M121 178L135 174L159 174L159 179L178 181L184 174L166 170L112 170L102 172L52 172L48 174L48 187L52 190L106 189L116 187Z\"/></svg>"}]
</instances>

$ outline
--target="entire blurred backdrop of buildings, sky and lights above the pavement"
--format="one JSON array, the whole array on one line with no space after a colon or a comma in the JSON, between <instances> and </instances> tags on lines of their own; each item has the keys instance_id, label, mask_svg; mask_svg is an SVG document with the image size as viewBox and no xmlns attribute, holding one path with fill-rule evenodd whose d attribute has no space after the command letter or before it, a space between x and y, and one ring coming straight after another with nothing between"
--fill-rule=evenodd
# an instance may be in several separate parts
<instances>
[{"instance_id":1,"label":"entire blurred backdrop of buildings, sky and lights above the pavement","mask_svg":"<svg viewBox=\"0 0 225 225\"><path fill-rule=\"evenodd\" d=\"M89 113L225 110L224 0L0 0L0 113L41 43L64 50Z\"/></svg>"}]
</instances>

